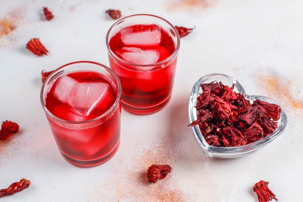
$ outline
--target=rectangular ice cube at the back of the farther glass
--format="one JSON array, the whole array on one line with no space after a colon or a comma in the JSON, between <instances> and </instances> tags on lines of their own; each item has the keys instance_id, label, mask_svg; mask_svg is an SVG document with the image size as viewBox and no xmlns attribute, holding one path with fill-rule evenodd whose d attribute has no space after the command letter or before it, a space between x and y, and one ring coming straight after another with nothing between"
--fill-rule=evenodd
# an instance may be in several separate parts
<instances>
[{"instance_id":1,"label":"rectangular ice cube at the back of the farther glass","mask_svg":"<svg viewBox=\"0 0 303 202\"><path fill-rule=\"evenodd\" d=\"M124 46L157 46L161 42L161 27L157 24L129 26L121 30Z\"/></svg>"}]
</instances>

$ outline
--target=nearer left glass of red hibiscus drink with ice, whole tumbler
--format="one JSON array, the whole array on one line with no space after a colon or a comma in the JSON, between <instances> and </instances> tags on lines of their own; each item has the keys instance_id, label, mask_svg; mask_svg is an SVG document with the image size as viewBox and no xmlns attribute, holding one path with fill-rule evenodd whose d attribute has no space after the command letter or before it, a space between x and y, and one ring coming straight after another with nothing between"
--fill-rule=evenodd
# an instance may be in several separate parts
<instances>
[{"instance_id":1,"label":"nearer left glass of red hibiscus drink with ice, whole tumbler","mask_svg":"<svg viewBox=\"0 0 303 202\"><path fill-rule=\"evenodd\" d=\"M41 103L63 157L77 166L109 160L120 144L121 85L106 66L73 62L55 70Z\"/></svg>"}]
</instances>

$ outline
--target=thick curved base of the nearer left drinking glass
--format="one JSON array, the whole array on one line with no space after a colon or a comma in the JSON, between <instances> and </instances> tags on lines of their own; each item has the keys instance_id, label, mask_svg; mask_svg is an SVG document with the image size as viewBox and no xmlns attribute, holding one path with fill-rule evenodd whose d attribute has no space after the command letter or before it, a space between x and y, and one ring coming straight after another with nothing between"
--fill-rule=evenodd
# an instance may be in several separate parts
<instances>
[{"instance_id":1,"label":"thick curved base of the nearer left drinking glass","mask_svg":"<svg viewBox=\"0 0 303 202\"><path fill-rule=\"evenodd\" d=\"M113 148L113 150L109 154L107 154L106 156L104 156L102 158L99 158L96 160L91 160L91 161L76 160L76 159L73 159L73 158L65 155L60 150L59 151L60 151L61 155L65 158L65 160L67 160L71 164L74 164L74 165L80 166L80 167L92 167L92 166L98 166L100 164L103 164L106 161L108 161L109 159L111 159L117 153L119 146L120 146L120 140L118 141L117 145Z\"/></svg>"}]
</instances>

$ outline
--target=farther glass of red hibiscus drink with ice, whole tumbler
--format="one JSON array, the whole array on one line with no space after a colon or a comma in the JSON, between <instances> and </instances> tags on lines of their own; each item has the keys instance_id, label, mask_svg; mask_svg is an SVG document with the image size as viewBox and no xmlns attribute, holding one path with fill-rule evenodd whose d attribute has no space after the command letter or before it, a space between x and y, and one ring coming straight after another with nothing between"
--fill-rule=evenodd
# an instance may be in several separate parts
<instances>
[{"instance_id":1,"label":"farther glass of red hibiscus drink with ice, whole tumbler","mask_svg":"<svg viewBox=\"0 0 303 202\"><path fill-rule=\"evenodd\" d=\"M157 16L128 16L109 29L106 45L110 67L121 81L122 107L136 114L164 108L180 47L174 26Z\"/></svg>"}]
</instances>

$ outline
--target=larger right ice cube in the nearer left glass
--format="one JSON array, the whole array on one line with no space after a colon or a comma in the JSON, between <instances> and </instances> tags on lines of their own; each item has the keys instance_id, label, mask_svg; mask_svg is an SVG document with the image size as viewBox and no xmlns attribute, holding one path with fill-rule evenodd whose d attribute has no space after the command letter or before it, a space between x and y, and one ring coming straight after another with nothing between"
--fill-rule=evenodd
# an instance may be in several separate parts
<instances>
[{"instance_id":1,"label":"larger right ice cube in the nearer left glass","mask_svg":"<svg viewBox=\"0 0 303 202\"><path fill-rule=\"evenodd\" d=\"M107 107L109 93L110 87L107 83L75 83L68 100L83 116L89 116L96 107Z\"/></svg>"}]
</instances>

